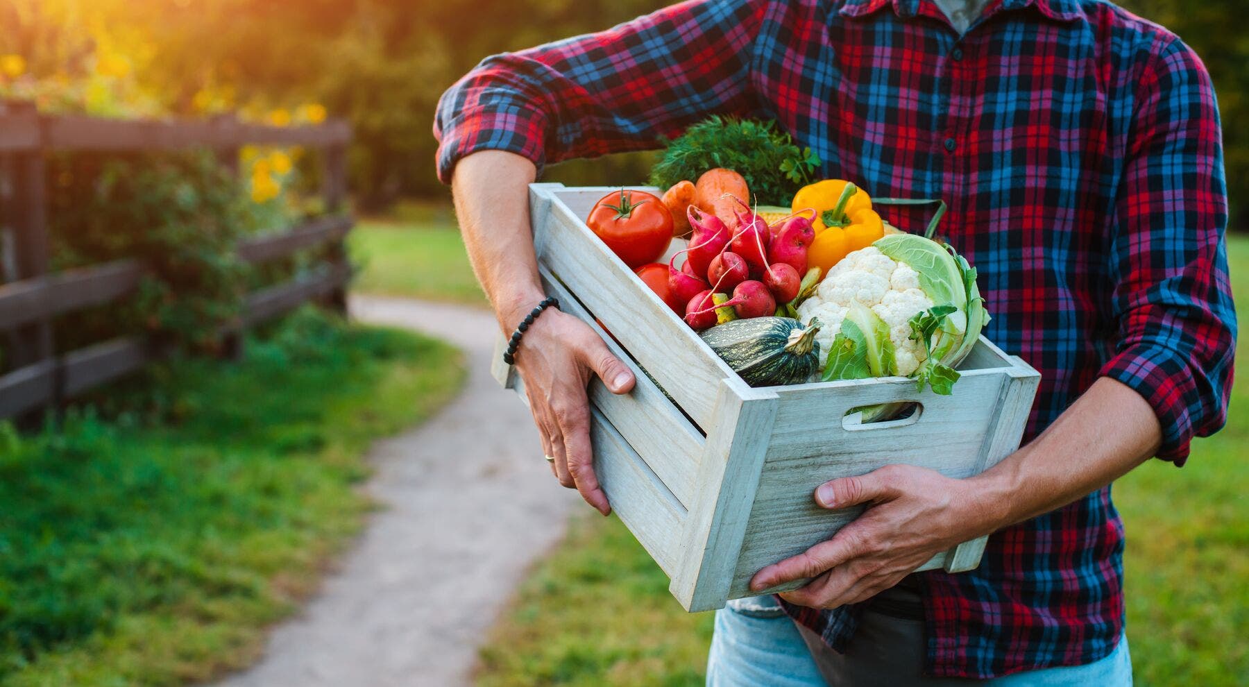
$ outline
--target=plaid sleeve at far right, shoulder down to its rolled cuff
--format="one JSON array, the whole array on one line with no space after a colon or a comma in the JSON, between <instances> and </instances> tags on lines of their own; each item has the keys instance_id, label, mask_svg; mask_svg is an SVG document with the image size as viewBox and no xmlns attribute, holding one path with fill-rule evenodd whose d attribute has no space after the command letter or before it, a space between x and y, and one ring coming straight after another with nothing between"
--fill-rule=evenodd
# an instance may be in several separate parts
<instances>
[{"instance_id":1,"label":"plaid sleeve at far right, shoulder down to its rolled cuff","mask_svg":"<svg viewBox=\"0 0 1249 687\"><path fill-rule=\"evenodd\" d=\"M1158 457L1183 465L1193 437L1227 421L1232 386L1219 115L1205 66L1178 40L1153 50L1137 92L1110 246L1118 336L1100 373L1153 406Z\"/></svg>"}]
</instances>

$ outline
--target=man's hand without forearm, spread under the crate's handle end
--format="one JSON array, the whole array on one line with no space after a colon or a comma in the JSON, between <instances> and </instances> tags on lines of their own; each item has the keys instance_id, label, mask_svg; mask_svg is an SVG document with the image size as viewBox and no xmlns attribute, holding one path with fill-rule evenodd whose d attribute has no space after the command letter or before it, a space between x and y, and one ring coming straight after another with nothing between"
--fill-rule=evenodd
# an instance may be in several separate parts
<instances>
[{"instance_id":1,"label":"man's hand without forearm, spread under the crate's handle end","mask_svg":"<svg viewBox=\"0 0 1249 687\"><path fill-rule=\"evenodd\" d=\"M781 597L812 608L857 603L893 587L938 552L993 530L967 481L923 467L887 465L824 482L814 497L823 508L868 508L833 538L761 570L753 590L813 577Z\"/></svg>"}]
</instances>

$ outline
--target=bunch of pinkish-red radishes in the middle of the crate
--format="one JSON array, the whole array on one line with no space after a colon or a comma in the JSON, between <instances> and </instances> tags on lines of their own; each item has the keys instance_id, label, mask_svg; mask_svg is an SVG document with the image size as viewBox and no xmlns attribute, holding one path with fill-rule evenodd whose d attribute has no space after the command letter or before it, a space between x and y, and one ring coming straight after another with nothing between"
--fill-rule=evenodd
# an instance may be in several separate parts
<instances>
[{"instance_id":1,"label":"bunch of pinkish-red radishes in the middle of the crate","mask_svg":"<svg viewBox=\"0 0 1249 687\"><path fill-rule=\"evenodd\" d=\"M746 211L734 210L732 234L719 217L689 206L692 235L681 251L686 264L677 270L676 255L668 261L668 305L698 331L724 320L774 315L777 304L798 296L807 271L807 247L816 239L811 221L796 215L768 226L736 200Z\"/></svg>"}]
</instances>

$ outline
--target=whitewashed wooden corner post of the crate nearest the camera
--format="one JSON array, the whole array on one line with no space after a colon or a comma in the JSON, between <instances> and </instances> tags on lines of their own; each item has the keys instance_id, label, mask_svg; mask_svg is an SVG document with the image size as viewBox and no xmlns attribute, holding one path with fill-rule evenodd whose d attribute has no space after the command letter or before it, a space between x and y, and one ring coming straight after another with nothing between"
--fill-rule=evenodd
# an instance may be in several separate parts
<instances>
[{"instance_id":1,"label":"whitewashed wooden corner post of the crate nearest the camera","mask_svg":"<svg viewBox=\"0 0 1249 687\"><path fill-rule=\"evenodd\" d=\"M767 457L777 395L739 378L721 381L716 422L698 463L698 498L682 527L682 555L668 587L686 611L723 608Z\"/></svg>"}]
</instances>

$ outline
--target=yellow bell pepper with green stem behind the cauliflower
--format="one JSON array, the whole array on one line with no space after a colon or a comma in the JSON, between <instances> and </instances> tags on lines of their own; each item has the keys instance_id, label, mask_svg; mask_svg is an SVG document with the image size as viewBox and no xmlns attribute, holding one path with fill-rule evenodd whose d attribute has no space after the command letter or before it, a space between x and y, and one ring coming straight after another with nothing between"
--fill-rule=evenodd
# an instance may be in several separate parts
<instances>
[{"instance_id":1,"label":"yellow bell pepper with green stem behind the cauliflower","mask_svg":"<svg viewBox=\"0 0 1249 687\"><path fill-rule=\"evenodd\" d=\"M816 240L807 249L807 264L823 274L848 254L884 236L884 222L872 199L849 181L829 179L798 190L793 211L814 209Z\"/></svg>"}]
</instances>

